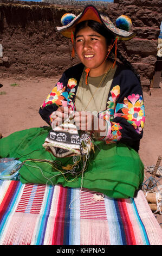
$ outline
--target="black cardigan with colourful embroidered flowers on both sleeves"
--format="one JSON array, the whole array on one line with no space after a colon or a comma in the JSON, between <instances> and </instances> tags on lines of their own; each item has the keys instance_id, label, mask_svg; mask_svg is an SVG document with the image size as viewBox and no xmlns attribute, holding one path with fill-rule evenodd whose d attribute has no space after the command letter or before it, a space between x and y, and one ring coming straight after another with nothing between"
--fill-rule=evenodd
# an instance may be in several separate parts
<instances>
[{"instance_id":1,"label":"black cardigan with colourful embroidered flowers on both sleeves","mask_svg":"<svg viewBox=\"0 0 162 256\"><path fill-rule=\"evenodd\" d=\"M39 113L49 125L51 113L59 106L68 105L75 109L75 95L83 69L82 63L67 69L40 107ZM107 96L107 106L104 112L99 113L99 117L101 115L102 118L109 119L109 133L102 140L107 144L122 142L136 151L139 150L145 108L140 81L132 70L118 65Z\"/></svg>"}]
</instances>

